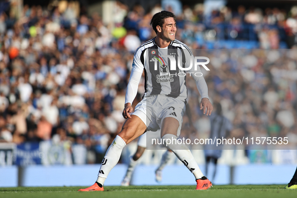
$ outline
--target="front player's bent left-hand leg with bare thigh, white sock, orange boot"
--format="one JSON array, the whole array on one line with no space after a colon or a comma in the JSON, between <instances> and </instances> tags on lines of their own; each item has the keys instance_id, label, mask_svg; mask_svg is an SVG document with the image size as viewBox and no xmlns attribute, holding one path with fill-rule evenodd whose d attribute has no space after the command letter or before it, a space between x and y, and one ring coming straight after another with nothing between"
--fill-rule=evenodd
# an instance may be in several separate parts
<instances>
[{"instance_id":1,"label":"front player's bent left-hand leg with bare thigh, white sock, orange boot","mask_svg":"<svg viewBox=\"0 0 297 198\"><path fill-rule=\"evenodd\" d=\"M129 144L135 138L142 135L145 130L146 125L139 117L132 115L131 118L126 120L122 131L116 136L103 158L97 181L92 186L79 189L78 191L103 191L105 179L113 167L119 162L123 148L126 144Z\"/></svg>"}]
</instances>

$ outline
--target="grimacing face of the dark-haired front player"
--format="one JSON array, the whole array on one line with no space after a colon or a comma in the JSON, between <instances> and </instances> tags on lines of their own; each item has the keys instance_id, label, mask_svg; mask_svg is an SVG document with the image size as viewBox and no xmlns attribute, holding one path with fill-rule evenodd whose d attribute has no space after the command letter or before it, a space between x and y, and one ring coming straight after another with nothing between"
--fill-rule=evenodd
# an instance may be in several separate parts
<instances>
[{"instance_id":1,"label":"grimacing face of the dark-haired front player","mask_svg":"<svg viewBox=\"0 0 297 198\"><path fill-rule=\"evenodd\" d=\"M167 41L173 41L176 33L176 23L172 17L166 18L164 24L160 27L160 37Z\"/></svg>"}]
</instances>

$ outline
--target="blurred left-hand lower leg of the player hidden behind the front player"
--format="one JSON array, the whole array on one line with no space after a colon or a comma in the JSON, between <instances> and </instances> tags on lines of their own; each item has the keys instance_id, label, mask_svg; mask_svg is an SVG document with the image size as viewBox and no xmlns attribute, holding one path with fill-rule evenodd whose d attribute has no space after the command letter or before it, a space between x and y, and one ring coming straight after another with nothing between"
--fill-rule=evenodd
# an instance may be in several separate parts
<instances>
[{"instance_id":1,"label":"blurred left-hand lower leg of the player hidden behind the front player","mask_svg":"<svg viewBox=\"0 0 297 198\"><path fill-rule=\"evenodd\" d=\"M129 162L129 165L128 165L126 175L125 175L125 177L124 177L124 179L123 179L123 181L121 183L122 186L129 186L130 185L130 180L131 180L132 173L133 173L133 171L135 169L135 166L138 163L138 159L142 156L144 151L145 151L144 147L138 146L136 153L133 156L130 157L130 162Z\"/></svg>"}]
</instances>

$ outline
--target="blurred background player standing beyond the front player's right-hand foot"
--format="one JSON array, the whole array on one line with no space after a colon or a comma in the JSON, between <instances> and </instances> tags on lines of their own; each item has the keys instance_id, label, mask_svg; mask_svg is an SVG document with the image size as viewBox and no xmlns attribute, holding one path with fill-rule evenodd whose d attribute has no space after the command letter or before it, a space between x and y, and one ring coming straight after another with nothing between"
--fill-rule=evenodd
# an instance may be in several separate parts
<instances>
[{"instance_id":1,"label":"blurred background player standing beyond the front player's right-hand foot","mask_svg":"<svg viewBox=\"0 0 297 198\"><path fill-rule=\"evenodd\" d=\"M223 116L222 114L222 106L220 103L215 103L215 110L216 112L213 113L210 116L211 120L211 134L210 134L210 139L215 141L215 139L222 139L222 137L228 136L228 134L231 132L233 126L232 123ZM217 172L217 163L218 159L222 156L222 149L223 145L219 145L218 147L215 147L213 145L206 144L205 145L205 157L206 157L206 175L208 175L208 166L211 161L214 162L215 164L215 170L213 173L213 178L212 180L215 179L216 172Z\"/></svg>"}]
</instances>

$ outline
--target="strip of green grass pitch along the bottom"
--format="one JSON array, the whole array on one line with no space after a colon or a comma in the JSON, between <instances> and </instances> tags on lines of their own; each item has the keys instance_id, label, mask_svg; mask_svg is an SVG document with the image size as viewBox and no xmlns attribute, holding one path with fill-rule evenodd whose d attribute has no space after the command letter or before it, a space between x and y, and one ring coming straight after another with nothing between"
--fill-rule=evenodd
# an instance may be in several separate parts
<instances>
[{"instance_id":1,"label":"strip of green grass pitch along the bottom","mask_svg":"<svg viewBox=\"0 0 297 198\"><path fill-rule=\"evenodd\" d=\"M195 186L106 186L105 191L78 192L78 187L7 187L0 188L0 197L12 198L255 198L255 197L297 197L297 189L283 189L284 185L217 185L208 190L195 190Z\"/></svg>"}]
</instances>

